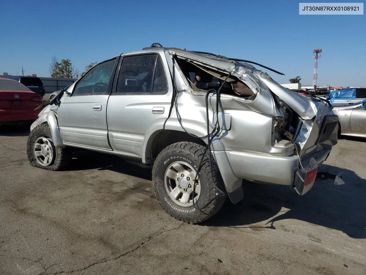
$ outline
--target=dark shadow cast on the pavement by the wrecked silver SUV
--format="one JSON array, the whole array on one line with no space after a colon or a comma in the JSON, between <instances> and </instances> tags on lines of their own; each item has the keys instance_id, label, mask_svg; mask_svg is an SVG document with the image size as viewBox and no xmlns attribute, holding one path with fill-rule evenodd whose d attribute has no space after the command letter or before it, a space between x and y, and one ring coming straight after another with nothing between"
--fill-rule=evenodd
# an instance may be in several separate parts
<instances>
[{"instance_id":1,"label":"dark shadow cast on the pavement by the wrecked silver SUV","mask_svg":"<svg viewBox=\"0 0 366 275\"><path fill-rule=\"evenodd\" d=\"M332 180L317 181L300 196L288 186L245 181L243 200L233 205L227 199L221 210L201 225L276 229L276 221L297 219L343 231L352 238L366 238L366 180L348 169L324 164L320 168L343 172L346 183L335 186ZM151 180L152 173L117 156L76 151L68 170L87 169L111 170L145 180ZM265 225L255 225L263 221L267 221Z\"/></svg>"}]
</instances>

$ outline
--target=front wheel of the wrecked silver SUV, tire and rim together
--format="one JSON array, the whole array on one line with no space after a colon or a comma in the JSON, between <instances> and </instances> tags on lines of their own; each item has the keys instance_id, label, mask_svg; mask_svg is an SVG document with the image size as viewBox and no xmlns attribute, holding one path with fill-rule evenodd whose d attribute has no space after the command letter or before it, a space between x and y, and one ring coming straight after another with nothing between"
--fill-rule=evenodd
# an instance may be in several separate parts
<instances>
[{"instance_id":1,"label":"front wheel of the wrecked silver SUV, tire and rim together","mask_svg":"<svg viewBox=\"0 0 366 275\"><path fill-rule=\"evenodd\" d=\"M71 161L70 148L55 147L48 124L41 124L30 132L27 142L30 165L47 170L61 170Z\"/></svg>"}]
</instances>

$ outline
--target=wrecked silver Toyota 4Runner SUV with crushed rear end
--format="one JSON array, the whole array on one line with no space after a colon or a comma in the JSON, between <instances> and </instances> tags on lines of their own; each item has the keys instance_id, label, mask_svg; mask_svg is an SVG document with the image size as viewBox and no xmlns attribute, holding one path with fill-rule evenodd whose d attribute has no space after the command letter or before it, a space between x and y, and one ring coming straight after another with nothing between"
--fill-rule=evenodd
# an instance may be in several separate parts
<instances>
[{"instance_id":1,"label":"wrecked silver Toyota 4Runner SUV with crushed rear end","mask_svg":"<svg viewBox=\"0 0 366 275\"><path fill-rule=\"evenodd\" d=\"M338 117L324 99L284 88L247 60L153 44L92 67L43 103L31 125L31 165L63 169L72 148L152 167L163 209L199 223L247 181L303 195L337 143ZM279 73L263 65L257 64Z\"/></svg>"}]
</instances>

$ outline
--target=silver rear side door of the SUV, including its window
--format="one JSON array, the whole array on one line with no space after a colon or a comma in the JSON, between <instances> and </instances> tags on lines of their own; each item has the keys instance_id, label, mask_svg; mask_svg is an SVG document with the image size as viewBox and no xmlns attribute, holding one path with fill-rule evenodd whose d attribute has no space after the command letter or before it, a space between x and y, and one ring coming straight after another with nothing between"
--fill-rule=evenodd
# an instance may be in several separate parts
<instances>
[{"instance_id":1,"label":"silver rear side door of the SUV, including its window","mask_svg":"<svg viewBox=\"0 0 366 275\"><path fill-rule=\"evenodd\" d=\"M123 56L107 109L108 136L114 151L142 157L147 129L155 120L168 116L168 89L172 89L168 72L167 60L159 53Z\"/></svg>"}]
</instances>

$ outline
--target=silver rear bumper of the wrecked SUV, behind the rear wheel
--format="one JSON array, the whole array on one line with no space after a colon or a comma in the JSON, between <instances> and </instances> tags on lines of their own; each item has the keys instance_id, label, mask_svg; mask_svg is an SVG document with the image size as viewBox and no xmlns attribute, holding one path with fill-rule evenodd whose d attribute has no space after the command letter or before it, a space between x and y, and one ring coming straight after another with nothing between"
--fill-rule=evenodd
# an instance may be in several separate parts
<instances>
[{"instance_id":1,"label":"silver rear bumper of the wrecked SUV, behind the rear wheel","mask_svg":"<svg viewBox=\"0 0 366 275\"><path fill-rule=\"evenodd\" d=\"M302 160L301 164L306 168L310 165L310 159L314 158L318 165L320 165L325 161L329 153L330 149L318 151ZM232 171L238 179L255 182L292 186L295 169L298 169L300 166L297 155L280 158L233 151L227 151L226 154Z\"/></svg>"}]
</instances>

